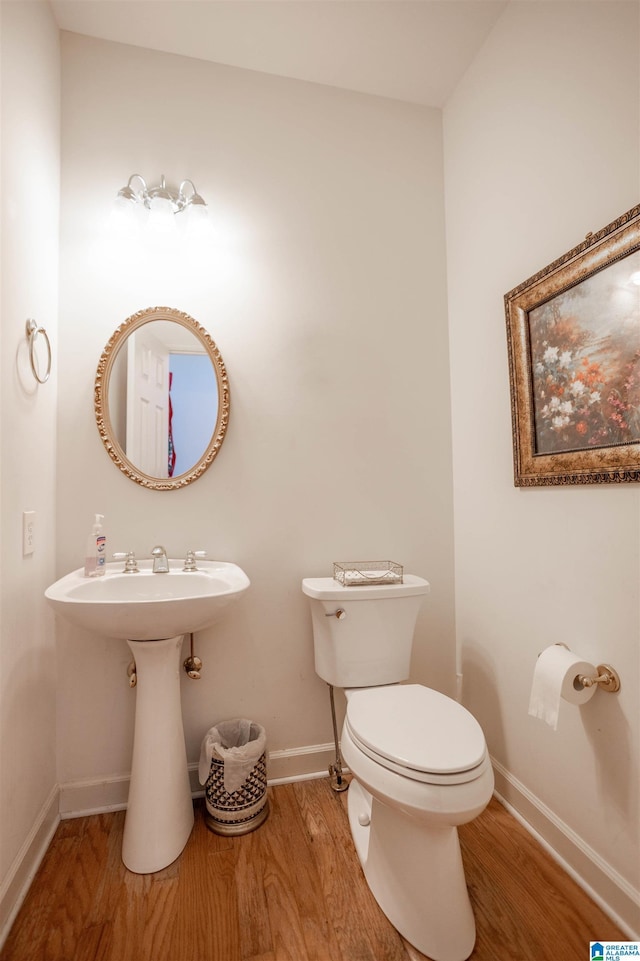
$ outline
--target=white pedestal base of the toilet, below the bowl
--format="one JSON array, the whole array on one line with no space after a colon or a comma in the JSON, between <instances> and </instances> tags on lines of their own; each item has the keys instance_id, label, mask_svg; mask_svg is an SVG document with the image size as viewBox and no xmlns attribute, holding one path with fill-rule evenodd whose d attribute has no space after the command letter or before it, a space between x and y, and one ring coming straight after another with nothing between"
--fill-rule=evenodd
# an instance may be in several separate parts
<instances>
[{"instance_id":1,"label":"white pedestal base of the toilet, below the bowl","mask_svg":"<svg viewBox=\"0 0 640 961\"><path fill-rule=\"evenodd\" d=\"M355 778L348 811L367 884L396 930L433 961L466 961L476 931L457 829L391 808Z\"/></svg>"}]
</instances>

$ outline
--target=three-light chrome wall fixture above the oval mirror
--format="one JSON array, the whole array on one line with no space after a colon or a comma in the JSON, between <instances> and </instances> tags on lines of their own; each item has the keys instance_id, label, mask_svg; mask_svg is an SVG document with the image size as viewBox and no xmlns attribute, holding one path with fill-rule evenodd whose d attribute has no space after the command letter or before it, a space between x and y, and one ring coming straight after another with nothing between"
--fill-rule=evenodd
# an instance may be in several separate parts
<instances>
[{"instance_id":1,"label":"three-light chrome wall fixture above the oval mirror","mask_svg":"<svg viewBox=\"0 0 640 961\"><path fill-rule=\"evenodd\" d=\"M128 223L141 223L159 230L172 230L176 214L184 213L188 227L207 222L207 205L192 180L183 180L177 192L167 187L164 174L156 187L147 187L144 177L132 174L126 187L118 191L115 213ZM182 218L181 218L182 220Z\"/></svg>"}]
</instances>

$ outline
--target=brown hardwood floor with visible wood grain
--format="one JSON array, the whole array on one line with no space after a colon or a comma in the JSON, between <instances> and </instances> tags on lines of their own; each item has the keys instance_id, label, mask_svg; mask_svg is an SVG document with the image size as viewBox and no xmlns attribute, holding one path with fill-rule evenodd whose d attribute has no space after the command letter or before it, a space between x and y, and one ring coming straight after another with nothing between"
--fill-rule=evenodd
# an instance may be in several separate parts
<instances>
[{"instance_id":1,"label":"brown hardwood floor with visible wood grain","mask_svg":"<svg viewBox=\"0 0 640 961\"><path fill-rule=\"evenodd\" d=\"M0 961L423 961L378 908L346 795L327 780L269 790L252 834L205 826L153 875L120 859L124 812L63 821ZM588 961L625 940L497 802L460 828L478 936L472 961Z\"/></svg>"}]
</instances>

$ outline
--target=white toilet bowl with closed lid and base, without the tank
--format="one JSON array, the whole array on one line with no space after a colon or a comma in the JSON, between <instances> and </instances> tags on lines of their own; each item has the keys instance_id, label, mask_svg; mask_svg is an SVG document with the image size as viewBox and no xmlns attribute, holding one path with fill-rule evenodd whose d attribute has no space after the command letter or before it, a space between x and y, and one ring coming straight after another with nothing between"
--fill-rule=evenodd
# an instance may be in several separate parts
<instances>
[{"instance_id":1,"label":"white toilet bowl with closed lid and base, without the tank","mask_svg":"<svg viewBox=\"0 0 640 961\"><path fill-rule=\"evenodd\" d=\"M397 930L434 961L465 961L475 922L457 825L493 793L482 730L422 685L346 691L349 824L367 883Z\"/></svg>"}]
</instances>

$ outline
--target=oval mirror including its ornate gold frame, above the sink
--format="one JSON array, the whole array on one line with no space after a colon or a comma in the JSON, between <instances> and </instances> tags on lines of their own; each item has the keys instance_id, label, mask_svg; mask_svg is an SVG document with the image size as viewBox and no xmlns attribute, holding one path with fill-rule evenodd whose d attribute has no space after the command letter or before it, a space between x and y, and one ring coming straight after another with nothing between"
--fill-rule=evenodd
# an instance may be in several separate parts
<instances>
[{"instance_id":1,"label":"oval mirror including its ornate gold frame, above the sink","mask_svg":"<svg viewBox=\"0 0 640 961\"><path fill-rule=\"evenodd\" d=\"M227 371L193 317L150 307L110 338L94 403L100 437L120 470L143 487L176 490L201 477L220 450L229 422Z\"/></svg>"}]
</instances>

